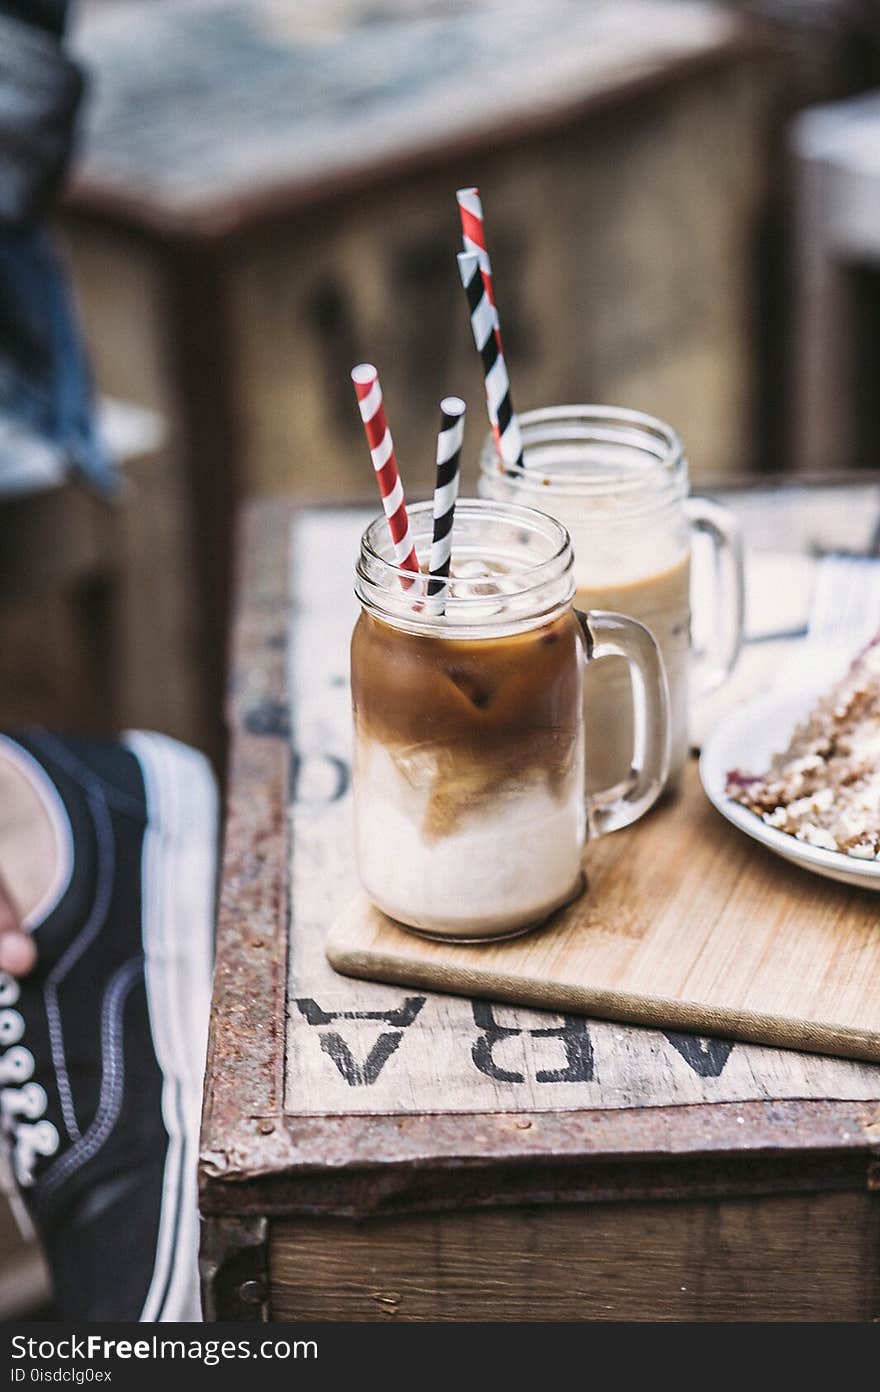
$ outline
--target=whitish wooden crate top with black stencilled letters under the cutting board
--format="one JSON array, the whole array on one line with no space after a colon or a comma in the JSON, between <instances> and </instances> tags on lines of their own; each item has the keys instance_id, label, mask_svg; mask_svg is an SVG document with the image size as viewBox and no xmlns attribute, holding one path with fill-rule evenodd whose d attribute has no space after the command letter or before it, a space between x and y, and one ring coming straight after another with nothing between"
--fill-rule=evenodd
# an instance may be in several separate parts
<instances>
[{"instance_id":1,"label":"whitish wooden crate top with black stencilled letters under the cutting board","mask_svg":"<svg viewBox=\"0 0 880 1392\"><path fill-rule=\"evenodd\" d=\"M792 518L795 511L792 501ZM827 505L822 512L841 525L840 508ZM862 521L870 526L867 508L855 512L855 526ZM870 1065L731 1045L673 1027L631 1029L574 1012L489 1005L478 992L464 999L356 981L330 969L324 958L329 927L358 892L348 697L348 636L356 607L348 561L354 562L368 516L361 509L305 509L291 535L294 778L285 1112L344 1118L879 1097L880 1070ZM815 540L808 519L801 516L798 526L803 544ZM338 564L329 567L327 555ZM632 837L645 834L650 834L647 825ZM593 849L610 855L615 841ZM600 862L592 864L596 877ZM654 866L652 874L659 873ZM405 941L422 947L419 940Z\"/></svg>"}]
</instances>

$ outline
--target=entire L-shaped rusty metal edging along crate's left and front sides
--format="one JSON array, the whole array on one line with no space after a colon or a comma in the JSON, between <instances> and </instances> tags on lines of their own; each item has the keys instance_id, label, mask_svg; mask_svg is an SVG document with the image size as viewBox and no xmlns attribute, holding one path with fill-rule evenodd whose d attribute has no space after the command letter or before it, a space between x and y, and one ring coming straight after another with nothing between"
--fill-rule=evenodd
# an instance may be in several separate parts
<instances>
[{"instance_id":1,"label":"entire L-shaped rusty metal edging along crate's left and front sides","mask_svg":"<svg viewBox=\"0 0 880 1392\"><path fill-rule=\"evenodd\" d=\"M830 482L830 480L828 480ZM767 480L762 480L767 486ZM239 529L228 697L231 777L205 1096L205 1214L363 1214L500 1201L654 1197L703 1183L874 1187L880 1101L760 1101L615 1111L297 1116L284 1114L290 536L285 501L251 504ZM272 717L278 725L273 728ZM714 1173L705 1171L712 1158ZM723 1161L723 1164L720 1164ZM653 1176L650 1166L654 1166ZM497 1166L508 1173L497 1186ZM468 1176L465 1186L458 1173ZM700 1178L702 1175L702 1178ZM721 1186L718 1189L718 1186ZM727 1189L724 1189L727 1186ZM515 1199L514 1199L515 1196ZM489 1200L485 1200L489 1201Z\"/></svg>"}]
</instances>

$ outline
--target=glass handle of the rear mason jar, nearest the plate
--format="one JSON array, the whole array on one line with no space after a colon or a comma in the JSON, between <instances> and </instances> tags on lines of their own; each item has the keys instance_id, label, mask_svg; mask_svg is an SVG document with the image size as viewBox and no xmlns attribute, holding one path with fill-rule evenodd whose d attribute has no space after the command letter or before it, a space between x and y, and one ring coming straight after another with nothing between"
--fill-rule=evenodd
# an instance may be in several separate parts
<instances>
[{"instance_id":1,"label":"glass handle of the rear mason jar, nearest the plate","mask_svg":"<svg viewBox=\"0 0 880 1392\"><path fill-rule=\"evenodd\" d=\"M696 661L696 688L709 696L727 681L742 649L745 618L745 580L742 571L742 540L732 512L709 498L688 498L688 518L695 532L709 537L714 550L716 585L713 614L702 625L712 633L706 653Z\"/></svg>"}]
</instances>

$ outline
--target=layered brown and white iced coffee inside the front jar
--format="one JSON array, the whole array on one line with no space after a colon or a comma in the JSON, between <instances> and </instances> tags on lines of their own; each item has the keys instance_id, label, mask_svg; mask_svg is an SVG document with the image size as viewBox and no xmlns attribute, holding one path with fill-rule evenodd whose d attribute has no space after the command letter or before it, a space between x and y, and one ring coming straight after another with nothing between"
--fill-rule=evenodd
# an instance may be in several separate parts
<instances>
[{"instance_id":1,"label":"layered brown and white iced coffee inside the front jar","mask_svg":"<svg viewBox=\"0 0 880 1392\"><path fill-rule=\"evenodd\" d=\"M358 817L358 856L386 913L485 937L572 896L582 667L571 610L508 638L440 642L361 615L355 782L370 812Z\"/></svg>"}]
</instances>

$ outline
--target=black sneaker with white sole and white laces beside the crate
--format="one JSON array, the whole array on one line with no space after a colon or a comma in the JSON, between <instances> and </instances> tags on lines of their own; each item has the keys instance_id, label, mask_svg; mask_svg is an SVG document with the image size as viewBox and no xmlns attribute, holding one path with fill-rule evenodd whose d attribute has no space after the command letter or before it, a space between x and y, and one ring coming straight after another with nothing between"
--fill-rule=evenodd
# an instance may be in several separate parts
<instances>
[{"instance_id":1,"label":"black sneaker with white sole and white laces beside the crate","mask_svg":"<svg viewBox=\"0 0 880 1392\"><path fill-rule=\"evenodd\" d=\"M38 966L0 973L10 1162L68 1320L201 1320L198 1130L217 798L162 735L0 736L39 792L57 876Z\"/></svg>"}]
</instances>

